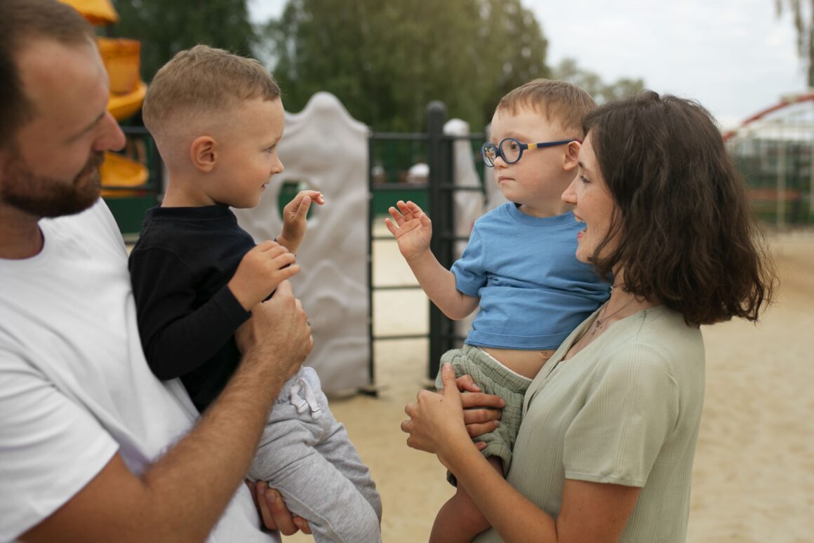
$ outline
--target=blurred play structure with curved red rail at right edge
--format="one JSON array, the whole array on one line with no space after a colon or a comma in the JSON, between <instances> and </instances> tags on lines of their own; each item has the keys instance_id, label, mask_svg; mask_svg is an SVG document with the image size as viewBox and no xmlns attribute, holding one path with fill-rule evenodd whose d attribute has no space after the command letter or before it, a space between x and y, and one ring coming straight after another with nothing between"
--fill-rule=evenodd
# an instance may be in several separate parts
<instances>
[{"instance_id":1,"label":"blurred play structure with curved red rail at right edge","mask_svg":"<svg viewBox=\"0 0 814 543\"><path fill-rule=\"evenodd\" d=\"M778 229L814 222L814 94L783 97L724 142L761 219Z\"/></svg>"}]
</instances>

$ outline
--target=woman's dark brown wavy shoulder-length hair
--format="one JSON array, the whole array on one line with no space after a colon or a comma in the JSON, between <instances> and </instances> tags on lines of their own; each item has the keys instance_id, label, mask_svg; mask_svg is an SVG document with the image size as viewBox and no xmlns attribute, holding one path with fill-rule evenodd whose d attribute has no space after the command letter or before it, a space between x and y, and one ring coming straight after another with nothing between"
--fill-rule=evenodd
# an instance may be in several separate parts
<instances>
[{"instance_id":1,"label":"woman's dark brown wavy shoulder-length hair","mask_svg":"<svg viewBox=\"0 0 814 543\"><path fill-rule=\"evenodd\" d=\"M710 113L646 91L597 108L584 125L615 201L593 255L597 272L623 268L627 291L660 300L689 325L757 321L777 276Z\"/></svg>"}]
</instances>

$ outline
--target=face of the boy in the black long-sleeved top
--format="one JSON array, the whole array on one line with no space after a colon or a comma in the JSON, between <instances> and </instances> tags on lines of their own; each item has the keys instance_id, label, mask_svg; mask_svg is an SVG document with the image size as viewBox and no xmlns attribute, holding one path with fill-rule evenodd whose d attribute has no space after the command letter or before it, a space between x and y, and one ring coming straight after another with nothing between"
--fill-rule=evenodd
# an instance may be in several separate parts
<instances>
[{"instance_id":1,"label":"face of the boy in the black long-sleeved top","mask_svg":"<svg viewBox=\"0 0 814 543\"><path fill-rule=\"evenodd\" d=\"M280 99L246 100L230 112L218 138L218 182L209 197L233 208L253 208L283 165L277 156L285 113Z\"/></svg>"}]
</instances>

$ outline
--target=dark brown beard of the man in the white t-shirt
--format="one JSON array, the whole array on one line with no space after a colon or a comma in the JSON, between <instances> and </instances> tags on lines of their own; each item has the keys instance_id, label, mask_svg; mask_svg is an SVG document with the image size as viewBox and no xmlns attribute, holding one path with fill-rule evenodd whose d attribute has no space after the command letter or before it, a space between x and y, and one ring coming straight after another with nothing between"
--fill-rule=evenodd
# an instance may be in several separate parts
<instances>
[{"instance_id":1,"label":"dark brown beard of the man in the white t-shirt","mask_svg":"<svg viewBox=\"0 0 814 543\"><path fill-rule=\"evenodd\" d=\"M36 217L62 217L90 208L99 197L101 177L98 167L103 151L92 151L85 167L72 182L33 173L12 151L0 173L0 201Z\"/></svg>"}]
</instances>

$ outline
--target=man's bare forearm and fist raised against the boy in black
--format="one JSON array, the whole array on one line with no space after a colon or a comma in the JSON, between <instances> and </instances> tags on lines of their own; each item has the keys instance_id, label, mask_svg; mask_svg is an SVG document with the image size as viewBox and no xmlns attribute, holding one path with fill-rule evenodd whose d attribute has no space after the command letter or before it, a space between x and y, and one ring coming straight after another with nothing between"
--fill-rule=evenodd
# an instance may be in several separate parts
<instances>
[{"instance_id":1,"label":"man's bare forearm and fist raised against the boy in black","mask_svg":"<svg viewBox=\"0 0 814 543\"><path fill-rule=\"evenodd\" d=\"M204 541L243 482L282 383L313 344L288 282L239 332L243 361L184 439L141 477L116 454L22 541Z\"/></svg>"}]
</instances>

